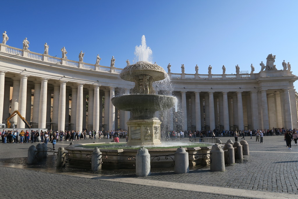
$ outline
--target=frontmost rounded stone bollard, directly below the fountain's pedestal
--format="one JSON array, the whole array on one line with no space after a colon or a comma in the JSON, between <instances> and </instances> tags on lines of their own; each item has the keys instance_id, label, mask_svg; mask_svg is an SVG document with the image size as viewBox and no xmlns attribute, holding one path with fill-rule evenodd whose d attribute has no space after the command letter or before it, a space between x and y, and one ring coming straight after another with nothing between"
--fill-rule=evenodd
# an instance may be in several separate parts
<instances>
[{"instance_id":1,"label":"frontmost rounded stone bollard, directly below the fountain's pedestal","mask_svg":"<svg viewBox=\"0 0 298 199\"><path fill-rule=\"evenodd\" d=\"M150 175L150 154L144 147L136 153L136 175L145 177Z\"/></svg>"}]
</instances>

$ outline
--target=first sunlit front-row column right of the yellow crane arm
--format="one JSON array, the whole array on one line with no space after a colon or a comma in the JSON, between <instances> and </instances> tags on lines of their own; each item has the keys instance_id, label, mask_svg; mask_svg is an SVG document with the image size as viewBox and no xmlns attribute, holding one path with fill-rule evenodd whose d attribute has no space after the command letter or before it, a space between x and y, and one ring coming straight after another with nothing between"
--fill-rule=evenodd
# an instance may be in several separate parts
<instances>
[{"instance_id":1,"label":"first sunlit front-row column right of the yellow crane arm","mask_svg":"<svg viewBox=\"0 0 298 199\"><path fill-rule=\"evenodd\" d=\"M48 90L48 80L49 79L41 78L38 128L46 128L46 94Z\"/></svg>"}]
</instances>

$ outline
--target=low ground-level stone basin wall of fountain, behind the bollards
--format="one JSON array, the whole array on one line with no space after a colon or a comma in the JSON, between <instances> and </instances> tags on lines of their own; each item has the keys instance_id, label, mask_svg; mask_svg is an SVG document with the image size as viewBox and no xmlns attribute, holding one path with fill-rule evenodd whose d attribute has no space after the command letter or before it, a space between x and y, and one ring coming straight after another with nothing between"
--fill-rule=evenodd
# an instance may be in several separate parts
<instances>
[{"instance_id":1,"label":"low ground-level stone basin wall of fountain, behind the bollards","mask_svg":"<svg viewBox=\"0 0 298 199\"><path fill-rule=\"evenodd\" d=\"M77 168L91 168L91 158L86 157L86 153L92 154L94 149L86 149L79 147L82 144L69 145L65 149L69 152L69 165ZM85 145L85 144L83 144ZM204 147L187 147L186 152L189 154L189 166L196 165L207 165L209 160L208 156L203 157L203 155L196 155L202 153L209 153L212 146ZM107 155L107 159L102 158L103 169L135 169L136 161L132 157L136 157L138 149L100 149L103 155ZM170 149L148 149L150 153L151 168L166 168L173 167L174 153L177 148ZM80 154L82 153L82 154ZM165 158L165 155L169 155L171 158ZM157 157L159 156L159 160ZM131 160L128 158L131 157Z\"/></svg>"}]
</instances>

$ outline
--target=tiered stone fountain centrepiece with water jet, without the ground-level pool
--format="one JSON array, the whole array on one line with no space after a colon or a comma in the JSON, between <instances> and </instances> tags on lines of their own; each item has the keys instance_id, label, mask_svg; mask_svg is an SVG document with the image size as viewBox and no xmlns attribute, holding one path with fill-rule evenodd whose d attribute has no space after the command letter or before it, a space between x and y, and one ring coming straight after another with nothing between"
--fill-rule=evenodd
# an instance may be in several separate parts
<instances>
[{"instance_id":1,"label":"tiered stone fountain centrepiece with water jet, without the ground-level pool","mask_svg":"<svg viewBox=\"0 0 298 199\"><path fill-rule=\"evenodd\" d=\"M167 77L164 69L149 62L152 51L146 47L145 36L142 45L136 47L135 54L139 58L136 64L125 67L120 78L135 82L130 95L121 95L111 99L117 109L130 111L128 120L128 146L160 145L160 124L154 117L156 111L173 107L176 98L168 95L158 95L152 83Z\"/></svg>"}]
</instances>

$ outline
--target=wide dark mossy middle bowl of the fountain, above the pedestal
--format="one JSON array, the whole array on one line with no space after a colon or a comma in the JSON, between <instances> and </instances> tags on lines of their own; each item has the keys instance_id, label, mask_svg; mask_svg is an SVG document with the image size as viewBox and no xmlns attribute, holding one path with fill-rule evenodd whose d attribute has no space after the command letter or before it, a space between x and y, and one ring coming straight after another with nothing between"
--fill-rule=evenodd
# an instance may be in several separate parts
<instances>
[{"instance_id":1,"label":"wide dark mossy middle bowl of the fountain, above the pedestal","mask_svg":"<svg viewBox=\"0 0 298 199\"><path fill-rule=\"evenodd\" d=\"M117 109L124 111L159 111L175 106L176 97L168 95L133 94L121 95L111 99Z\"/></svg>"}]
</instances>

